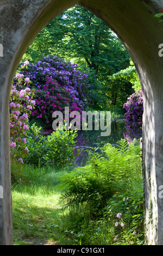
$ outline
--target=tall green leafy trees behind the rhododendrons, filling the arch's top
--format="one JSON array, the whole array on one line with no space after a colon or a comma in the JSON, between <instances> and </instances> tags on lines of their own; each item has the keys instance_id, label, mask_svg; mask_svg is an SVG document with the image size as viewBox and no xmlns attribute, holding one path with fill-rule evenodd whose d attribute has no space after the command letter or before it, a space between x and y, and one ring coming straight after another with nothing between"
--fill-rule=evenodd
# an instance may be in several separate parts
<instances>
[{"instance_id":1,"label":"tall green leafy trees behind the rhododendrons, filling the arch's top","mask_svg":"<svg viewBox=\"0 0 163 256\"><path fill-rule=\"evenodd\" d=\"M76 5L52 20L37 35L24 57L37 63L53 54L78 63L81 71L91 74L94 107L116 106L123 94L127 97L130 82L111 83L110 76L128 68L130 57L115 33L90 11ZM119 106L123 106L127 97Z\"/></svg>"}]
</instances>

